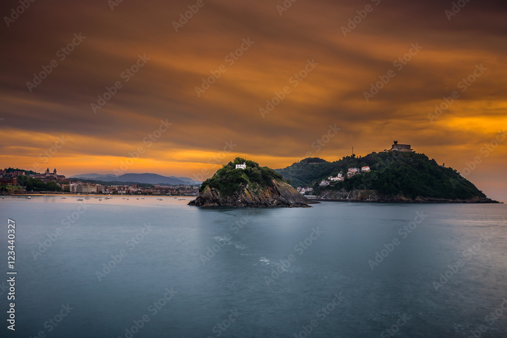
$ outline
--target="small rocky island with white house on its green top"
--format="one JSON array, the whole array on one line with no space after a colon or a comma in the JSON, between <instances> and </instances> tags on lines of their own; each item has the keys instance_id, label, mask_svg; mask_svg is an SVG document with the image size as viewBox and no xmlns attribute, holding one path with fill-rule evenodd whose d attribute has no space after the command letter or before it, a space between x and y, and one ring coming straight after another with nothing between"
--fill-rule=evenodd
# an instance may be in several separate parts
<instances>
[{"instance_id":1,"label":"small rocky island with white house on its green top","mask_svg":"<svg viewBox=\"0 0 507 338\"><path fill-rule=\"evenodd\" d=\"M237 157L204 181L189 205L310 207L310 203L273 169Z\"/></svg>"}]
</instances>

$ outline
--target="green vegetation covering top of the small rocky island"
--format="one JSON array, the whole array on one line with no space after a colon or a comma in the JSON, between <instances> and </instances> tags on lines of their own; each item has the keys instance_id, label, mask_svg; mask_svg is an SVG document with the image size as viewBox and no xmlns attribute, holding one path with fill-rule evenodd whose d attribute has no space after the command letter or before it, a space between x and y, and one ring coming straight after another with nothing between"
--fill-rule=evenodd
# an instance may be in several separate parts
<instances>
[{"instance_id":1,"label":"green vegetation covering top of the small rocky island","mask_svg":"<svg viewBox=\"0 0 507 338\"><path fill-rule=\"evenodd\" d=\"M236 169L236 164L246 163L246 169ZM199 189L206 187L219 190L222 196L231 196L245 188L248 183L256 188L272 186L272 180L283 180L283 177L267 166L261 167L257 162L236 157L219 169L212 177L204 181Z\"/></svg>"}]
</instances>

